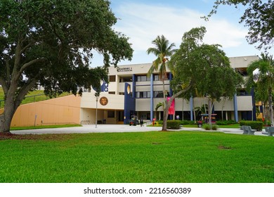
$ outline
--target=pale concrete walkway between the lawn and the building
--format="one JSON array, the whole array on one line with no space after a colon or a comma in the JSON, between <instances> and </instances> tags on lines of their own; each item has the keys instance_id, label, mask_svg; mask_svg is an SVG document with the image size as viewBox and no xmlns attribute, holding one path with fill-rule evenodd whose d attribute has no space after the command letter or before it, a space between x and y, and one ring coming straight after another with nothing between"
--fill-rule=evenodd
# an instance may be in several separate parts
<instances>
[{"instance_id":1,"label":"pale concrete walkway between the lawn and the building","mask_svg":"<svg viewBox=\"0 0 274 197\"><path fill-rule=\"evenodd\" d=\"M67 128L54 128L54 129L30 129L30 130L18 130L11 131L13 134L72 134L72 133L106 133L106 132L150 132L160 131L162 127L141 127L129 126L129 125L83 125L82 127L67 127ZM242 134L240 129L225 129L219 128L217 131L206 131L205 129L198 127L182 127L178 130L172 130L176 132L180 131L193 131L193 132L223 132L226 134ZM264 132L264 131L263 131ZM255 135L267 136L262 132L255 132Z\"/></svg>"}]
</instances>

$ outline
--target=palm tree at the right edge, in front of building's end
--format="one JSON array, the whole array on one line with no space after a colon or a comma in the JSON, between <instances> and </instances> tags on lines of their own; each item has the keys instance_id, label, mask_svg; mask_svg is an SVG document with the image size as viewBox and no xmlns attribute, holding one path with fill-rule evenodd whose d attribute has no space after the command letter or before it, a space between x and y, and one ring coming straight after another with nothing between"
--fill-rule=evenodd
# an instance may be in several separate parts
<instances>
[{"instance_id":1,"label":"palm tree at the right edge, in front of building's end","mask_svg":"<svg viewBox=\"0 0 274 197\"><path fill-rule=\"evenodd\" d=\"M274 126L273 120L273 86L274 86L274 61L273 56L261 54L258 61L254 61L247 68L247 89L254 87L256 82L257 94L263 96L268 95L268 108L270 111L270 122Z\"/></svg>"}]
</instances>

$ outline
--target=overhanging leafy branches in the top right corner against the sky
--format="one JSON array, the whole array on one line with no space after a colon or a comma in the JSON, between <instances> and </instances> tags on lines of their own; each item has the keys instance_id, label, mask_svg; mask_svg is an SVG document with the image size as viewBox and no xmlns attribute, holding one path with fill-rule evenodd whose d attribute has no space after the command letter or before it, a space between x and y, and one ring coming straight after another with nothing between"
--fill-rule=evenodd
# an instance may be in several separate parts
<instances>
[{"instance_id":1,"label":"overhanging leafy branches in the top right corner against the sky","mask_svg":"<svg viewBox=\"0 0 274 197\"><path fill-rule=\"evenodd\" d=\"M270 49L274 44L274 1L273 0L216 0L214 7L208 17L217 12L218 6L239 5L245 6L245 11L240 18L240 23L245 23L249 27L247 41L250 44L259 44L262 47ZM207 17L207 19L208 19Z\"/></svg>"}]
</instances>

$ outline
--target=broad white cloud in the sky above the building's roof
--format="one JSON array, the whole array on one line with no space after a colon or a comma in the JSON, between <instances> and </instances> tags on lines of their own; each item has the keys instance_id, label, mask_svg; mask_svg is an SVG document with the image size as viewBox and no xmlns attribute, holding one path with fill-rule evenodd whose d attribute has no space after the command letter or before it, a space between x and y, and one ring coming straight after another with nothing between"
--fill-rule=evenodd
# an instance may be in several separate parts
<instances>
[{"instance_id":1,"label":"broad white cloud in the sky above the building's roof","mask_svg":"<svg viewBox=\"0 0 274 197\"><path fill-rule=\"evenodd\" d=\"M146 51L151 47L157 35L164 34L170 42L178 47L181 37L193 27L207 27L204 42L221 44L223 48L236 47L245 42L247 31L225 19L212 19L205 22L200 13L188 8L171 8L167 6L150 6L146 4L120 4L117 14L121 21L115 30L130 37L136 51Z\"/></svg>"}]
</instances>

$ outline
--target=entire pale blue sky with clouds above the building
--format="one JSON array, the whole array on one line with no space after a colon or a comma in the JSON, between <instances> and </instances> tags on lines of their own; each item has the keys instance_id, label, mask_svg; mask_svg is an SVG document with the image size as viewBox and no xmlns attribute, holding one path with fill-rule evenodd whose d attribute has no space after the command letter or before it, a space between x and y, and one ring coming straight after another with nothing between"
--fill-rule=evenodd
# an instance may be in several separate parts
<instances>
[{"instance_id":1,"label":"entire pale blue sky with clouds above the building","mask_svg":"<svg viewBox=\"0 0 274 197\"><path fill-rule=\"evenodd\" d=\"M119 65L152 63L153 54L146 52L154 47L152 41L164 35L170 43L181 44L185 32L194 27L204 26L206 44L221 44L228 57L259 56L261 52L255 45L247 43L248 28L239 23L244 7L220 6L215 15L205 21L214 5L214 0L111 0L110 8L118 18L113 29L129 37L133 48L131 61L121 61ZM102 56L94 56L92 64L102 65Z\"/></svg>"}]
</instances>

